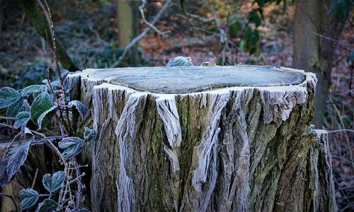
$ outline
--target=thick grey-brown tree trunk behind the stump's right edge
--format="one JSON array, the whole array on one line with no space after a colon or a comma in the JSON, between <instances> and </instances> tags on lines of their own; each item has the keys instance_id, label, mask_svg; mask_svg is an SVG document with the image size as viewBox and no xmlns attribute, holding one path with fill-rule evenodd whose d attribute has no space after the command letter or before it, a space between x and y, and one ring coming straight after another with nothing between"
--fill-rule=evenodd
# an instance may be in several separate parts
<instances>
[{"instance_id":1,"label":"thick grey-brown tree trunk behind the stump's right edge","mask_svg":"<svg viewBox=\"0 0 354 212\"><path fill-rule=\"evenodd\" d=\"M333 57L346 23L346 18L327 15L332 4L333 0L299 0L295 12L293 66L316 73L313 123L319 128L324 123Z\"/></svg>"}]
</instances>

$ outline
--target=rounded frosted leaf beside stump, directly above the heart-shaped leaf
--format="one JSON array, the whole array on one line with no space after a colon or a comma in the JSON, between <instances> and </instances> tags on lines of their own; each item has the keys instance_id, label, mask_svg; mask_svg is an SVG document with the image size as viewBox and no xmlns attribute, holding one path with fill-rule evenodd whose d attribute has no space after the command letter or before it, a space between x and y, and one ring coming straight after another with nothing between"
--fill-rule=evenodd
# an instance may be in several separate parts
<instances>
[{"instance_id":1,"label":"rounded frosted leaf beside stump, directly above the heart-shaped leaf","mask_svg":"<svg viewBox=\"0 0 354 212\"><path fill-rule=\"evenodd\" d=\"M67 137L58 143L59 148L65 149L62 153L64 159L72 158L80 153L82 140L77 137Z\"/></svg>"}]
</instances>

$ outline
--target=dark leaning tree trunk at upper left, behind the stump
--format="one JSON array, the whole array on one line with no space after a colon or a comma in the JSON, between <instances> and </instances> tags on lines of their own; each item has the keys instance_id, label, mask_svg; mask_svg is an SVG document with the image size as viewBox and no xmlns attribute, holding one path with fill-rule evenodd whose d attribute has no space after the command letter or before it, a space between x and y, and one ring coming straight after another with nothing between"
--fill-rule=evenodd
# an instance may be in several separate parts
<instances>
[{"instance_id":1,"label":"dark leaning tree trunk at upper left, behind the stump","mask_svg":"<svg viewBox=\"0 0 354 212\"><path fill-rule=\"evenodd\" d=\"M38 9L36 7L36 1L21 0L21 4L25 11L26 17L30 19L30 21L33 24L33 27L35 28L35 30L37 30L37 33L40 34L40 36L44 40L49 40L48 42L50 42L50 48L53 49L53 43L51 39L52 33L50 33L51 30L49 28L45 16L42 15L40 12L38 12ZM76 65L73 63L72 59L70 59L69 55L67 54L67 49L65 49L65 47L62 45L62 42L60 42L57 39L56 43L57 43L57 55L64 69L68 69L69 71L79 70L76 67Z\"/></svg>"}]
</instances>

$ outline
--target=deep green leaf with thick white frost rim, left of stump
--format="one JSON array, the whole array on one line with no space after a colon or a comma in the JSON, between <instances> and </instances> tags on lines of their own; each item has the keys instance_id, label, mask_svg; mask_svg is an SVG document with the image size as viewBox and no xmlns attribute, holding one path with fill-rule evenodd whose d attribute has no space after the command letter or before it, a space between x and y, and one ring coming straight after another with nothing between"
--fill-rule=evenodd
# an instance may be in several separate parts
<instances>
[{"instance_id":1,"label":"deep green leaf with thick white frost rim, left of stump","mask_svg":"<svg viewBox=\"0 0 354 212\"><path fill-rule=\"evenodd\" d=\"M53 104L48 93L40 93L40 95L38 95L35 100L33 100L33 103L30 107L30 117L33 122L37 123L40 115L46 110L50 109L50 107L53 107Z\"/></svg>"}]
</instances>

